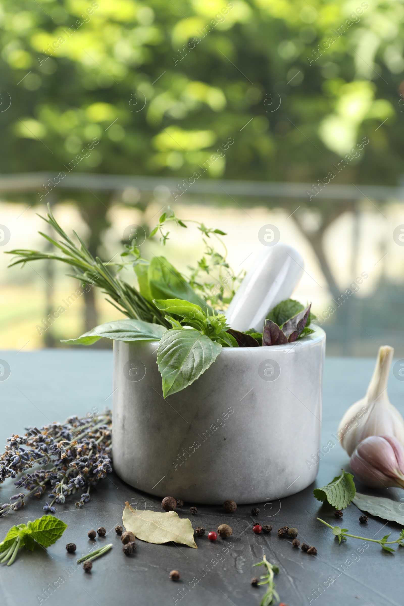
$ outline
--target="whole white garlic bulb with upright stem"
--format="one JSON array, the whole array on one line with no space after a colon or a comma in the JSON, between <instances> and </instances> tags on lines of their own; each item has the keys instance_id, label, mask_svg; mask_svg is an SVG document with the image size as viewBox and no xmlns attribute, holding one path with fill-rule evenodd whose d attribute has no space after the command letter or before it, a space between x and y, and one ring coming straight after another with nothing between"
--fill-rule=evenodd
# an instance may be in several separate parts
<instances>
[{"instance_id":1,"label":"whole white garlic bulb with upright stem","mask_svg":"<svg viewBox=\"0 0 404 606\"><path fill-rule=\"evenodd\" d=\"M404 446L404 420L387 395L393 354L389 345L380 347L365 398L348 408L339 424L339 441L349 456L368 436L394 436Z\"/></svg>"}]
</instances>

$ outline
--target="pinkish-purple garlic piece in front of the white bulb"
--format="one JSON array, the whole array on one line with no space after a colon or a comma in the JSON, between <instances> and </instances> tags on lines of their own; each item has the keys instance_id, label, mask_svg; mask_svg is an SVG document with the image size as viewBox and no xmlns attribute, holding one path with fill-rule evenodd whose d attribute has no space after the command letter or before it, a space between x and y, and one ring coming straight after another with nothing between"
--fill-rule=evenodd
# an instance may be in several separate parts
<instances>
[{"instance_id":1,"label":"pinkish-purple garlic piece in front of the white bulb","mask_svg":"<svg viewBox=\"0 0 404 606\"><path fill-rule=\"evenodd\" d=\"M404 448L392 436L369 436L351 456L351 470L371 488L404 488Z\"/></svg>"}]
</instances>

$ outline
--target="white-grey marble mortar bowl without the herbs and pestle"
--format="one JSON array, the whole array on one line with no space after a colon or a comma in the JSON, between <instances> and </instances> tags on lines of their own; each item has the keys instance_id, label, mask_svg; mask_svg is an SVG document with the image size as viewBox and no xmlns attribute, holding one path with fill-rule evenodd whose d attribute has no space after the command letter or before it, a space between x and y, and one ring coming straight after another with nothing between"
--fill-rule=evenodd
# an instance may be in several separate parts
<instances>
[{"instance_id":1,"label":"white-grey marble mortar bowl without the herbs and pestle","mask_svg":"<svg viewBox=\"0 0 404 606\"><path fill-rule=\"evenodd\" d=\"M113 461L128 484L188 502L262 502L314 481L325 333L224 348L185 390L162 396L157 342L114 341Z\"/></svg>"}]
</instances>

